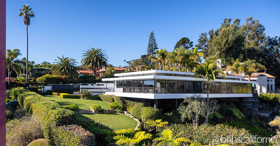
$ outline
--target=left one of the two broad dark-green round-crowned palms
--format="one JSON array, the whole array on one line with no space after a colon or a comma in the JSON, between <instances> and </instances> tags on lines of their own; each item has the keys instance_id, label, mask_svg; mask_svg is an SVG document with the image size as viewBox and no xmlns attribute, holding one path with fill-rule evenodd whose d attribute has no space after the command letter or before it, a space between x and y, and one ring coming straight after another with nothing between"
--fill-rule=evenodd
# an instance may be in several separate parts
<instances>
[{"instance_id":1,"label":"left one of the two broad dark-green round-crowned palms","mask_svg":"<svg viewBox=\"0 0 280 146\"><path fill-rule=\"evenodd\" d=\"M53 70L54 75L58 76L78 76L79 73L77 72L77 64L78 62L75 61L76 59L72 59L69 57L64 58L62 55L61 57L57 57L56 63Z\"/></svg>"}]
</instances>

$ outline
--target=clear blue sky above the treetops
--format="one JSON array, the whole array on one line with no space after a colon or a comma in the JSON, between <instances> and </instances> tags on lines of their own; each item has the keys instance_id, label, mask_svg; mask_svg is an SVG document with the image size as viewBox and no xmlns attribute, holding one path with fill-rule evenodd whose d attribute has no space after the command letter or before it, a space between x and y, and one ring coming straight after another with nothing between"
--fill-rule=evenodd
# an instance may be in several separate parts
<instances>
[{"instance_id":1,"label":"clear blue sky above the treetops","mask_svg":"<svg viewBox=\"0 0 280 146\"><path fill-rule=\"evenodd\" d=\"M200 33L217 29L224 18L241 24L253 16L268 36L280 36L280 1L6 1L6 48L26 57L26 26L18 17L23 4L33 8L28 28L29 60L35 63L57 56L81 61L83 50L105 50L109 63L124 66L146 54L153 30L159 48L172 51L182 37L194 44Z\"/></svg>"}]
</instances>

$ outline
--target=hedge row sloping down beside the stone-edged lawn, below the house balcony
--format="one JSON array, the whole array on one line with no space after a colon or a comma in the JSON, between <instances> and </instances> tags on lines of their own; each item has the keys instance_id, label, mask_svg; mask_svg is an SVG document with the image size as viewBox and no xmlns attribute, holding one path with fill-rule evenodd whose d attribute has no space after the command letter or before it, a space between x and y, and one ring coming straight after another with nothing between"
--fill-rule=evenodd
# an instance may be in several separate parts
<instances>
[{"instance_id":1,"label":"hedge row sloping down beside the stone-edged lawn, below the house balcony","mask_svg":"<svg viewBox=\"0 0 280 146\"><path fill-rule=\"evenodd\" d=\"M159 109L154 109L152 107L145 107L143 103L134 102L130 100L125 100L119 96L115 95L98 95L101 100L113 103L116 102L123 107L123 109L128 110L128 112L138 119L145 121L146 119L160 119L161 111Z\"/></svg>"}]
</instances>

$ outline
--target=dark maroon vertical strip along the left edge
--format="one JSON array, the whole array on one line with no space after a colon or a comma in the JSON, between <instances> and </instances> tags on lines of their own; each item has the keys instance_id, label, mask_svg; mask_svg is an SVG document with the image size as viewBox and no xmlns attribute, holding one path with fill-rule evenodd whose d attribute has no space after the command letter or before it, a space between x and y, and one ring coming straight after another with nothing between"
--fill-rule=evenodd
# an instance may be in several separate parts
<instances>
[{"instance_id":1,"label":"dark maroon vertical strip along the left edge","mask_svg":"<svg viewBox=\"0 0 280 146\"><path fill-rule=\"evenodd\" d=\"M0 8L0 146L6 145L6 0Z\"/></svg>"}]
</instances>

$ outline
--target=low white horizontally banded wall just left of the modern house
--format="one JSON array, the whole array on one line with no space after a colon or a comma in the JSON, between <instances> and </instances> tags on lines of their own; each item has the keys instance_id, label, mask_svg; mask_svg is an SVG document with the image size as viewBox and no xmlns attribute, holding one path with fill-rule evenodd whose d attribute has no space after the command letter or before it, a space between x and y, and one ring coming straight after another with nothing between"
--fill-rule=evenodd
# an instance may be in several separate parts
<instances>
[{"instance_id":1,"label":"low white horizontally banded wall just left of the modern house","mask_svg":"<svg viewBox=\"0 0 280 146\"><path fill-rule=\"evenodd\" d=\"M96 84L89 84L89 85L81 85L81 90L88 90L92 93L92 95L98 95L98 94L105 94L106 90L114 88L113 83L96 83Z\"/></svg>"}]
</instances>

